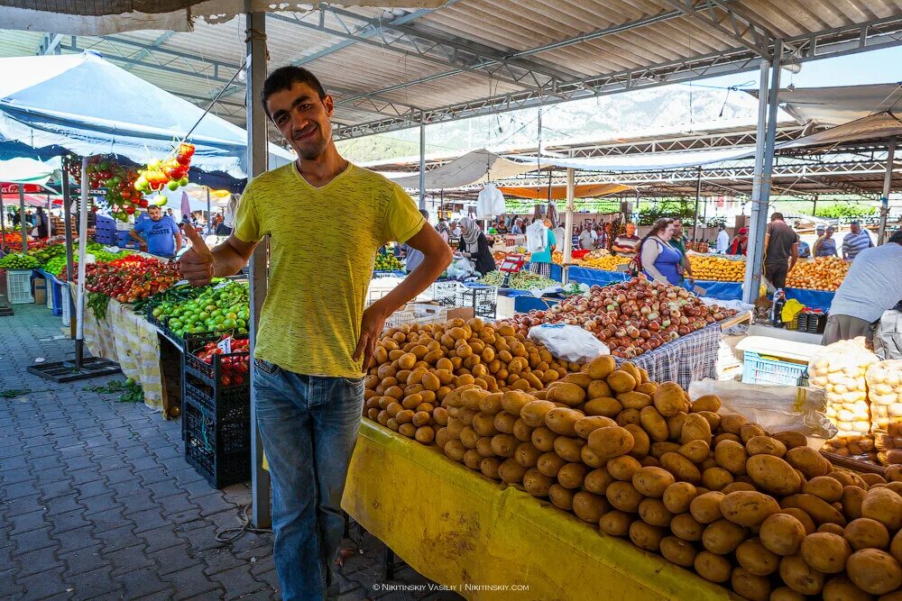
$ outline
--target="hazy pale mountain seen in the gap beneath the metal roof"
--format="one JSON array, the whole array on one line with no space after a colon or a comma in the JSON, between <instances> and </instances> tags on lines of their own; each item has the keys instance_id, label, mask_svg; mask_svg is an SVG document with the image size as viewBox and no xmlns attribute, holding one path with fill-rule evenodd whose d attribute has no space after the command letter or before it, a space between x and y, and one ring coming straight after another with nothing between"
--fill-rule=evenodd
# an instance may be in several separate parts
<instances>
[{"instance_id":1,"label":"hazy pale mountain seen in the gap beneath the metal roof","mask_svg":"<svg viewBox=\"0 0 902 601\"><path fill-rule=\"evenodd\" d=\"M692 132L755 123L758 101L742 91L668 86L585 98L541 109L543 146L556 142L611 140L642 132ZM523 109L426 127L427 154L480 148L535 146L539 109ZM419 128L338 141L338 150L357 163L419 156Z\"/></svg>"}]
</instances>

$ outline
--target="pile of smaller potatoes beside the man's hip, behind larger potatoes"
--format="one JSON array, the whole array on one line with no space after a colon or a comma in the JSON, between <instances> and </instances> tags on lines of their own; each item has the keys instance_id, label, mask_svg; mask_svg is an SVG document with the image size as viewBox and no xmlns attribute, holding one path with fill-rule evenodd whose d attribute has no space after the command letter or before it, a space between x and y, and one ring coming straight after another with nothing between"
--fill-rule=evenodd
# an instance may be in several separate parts
<instances>
[{"instance_id":1,"label":"pile of smaller potatoes beside the man's hip, behind larger potatoes","mask_svg":"<svg viewBox=\"0 0 902 601\"><path fill-rule=\"evenodd\" d=\"M514 335L511 325L479 318L401 325L376 343L364 378L364 416L431 444L436 424L445 425L439 404L456 388L541 390L579 367Z\"/></svg>"}]
</instances>

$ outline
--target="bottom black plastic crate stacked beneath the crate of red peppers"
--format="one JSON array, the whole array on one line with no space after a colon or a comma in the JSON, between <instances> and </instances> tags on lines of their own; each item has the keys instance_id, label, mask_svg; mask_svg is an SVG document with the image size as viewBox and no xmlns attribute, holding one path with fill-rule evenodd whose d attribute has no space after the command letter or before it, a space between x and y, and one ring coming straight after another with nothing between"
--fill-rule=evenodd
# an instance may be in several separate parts
<instances>
[{"instance_id":1,"label":"bottom black plastic crate stacked beneath the crate of red peppers","mask_svg":"<svg viewBox=\"0 0 902 601\"><path fill-rule=\"evenodd\" d=\"M184 403L185 460L210 486L251 478L250 407L247 422L226 422L190 399Z\"/></svg>"}]
</instances>

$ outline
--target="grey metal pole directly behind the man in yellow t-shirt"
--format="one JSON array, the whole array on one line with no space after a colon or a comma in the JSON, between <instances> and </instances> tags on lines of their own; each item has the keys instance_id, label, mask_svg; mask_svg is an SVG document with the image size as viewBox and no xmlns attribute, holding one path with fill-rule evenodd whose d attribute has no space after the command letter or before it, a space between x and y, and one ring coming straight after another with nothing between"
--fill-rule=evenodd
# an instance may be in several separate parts
<instances>
[{"instance_id":1,"label":"grey metal pole directly behind the man in yellow t-shirt","mask_svg":"<svg viewBox=\"0 0 902 601\"><path fill-rule=\"evenodd\" d=\"M251 0L244 0L245 45L247 50L247 168L248 178L255 178L267 168L266 114L260 105L260 93L266 78L266 14L253 13ZM263 239L253 250L249 261L251 283L251 354L260 324L260 311L266 298L266 269L269 241ZM252 364L253 365L253 364ZM255 379L256 370L251 370ZM257 397L251 387L251 520L256 528L272 524L270 508L270 473L263 469L263 443L257 423Z\"/></svg>"}]
</instances>

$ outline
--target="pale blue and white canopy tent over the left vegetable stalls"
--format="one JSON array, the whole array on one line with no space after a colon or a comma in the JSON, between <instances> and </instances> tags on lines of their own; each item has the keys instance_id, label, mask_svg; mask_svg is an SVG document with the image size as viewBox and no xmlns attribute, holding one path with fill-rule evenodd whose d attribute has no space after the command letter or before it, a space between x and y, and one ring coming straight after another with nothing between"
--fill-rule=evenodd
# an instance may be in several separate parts
<instances>
[{"instance_id":1,"label":"pale blue and white canopy tent over the left vegetable stalls","mask_svg":"<svg viewBox=\"0 0 902 601\"><path fill-rule=\"evenodd\" d=\"M0 59L0 72L0 136L33 149L64 147L143 164L168 156L204 113L89 52ZM102 117L95 116L98 106ZM192 167L247 177L247 132L240 127L207 114L189 141L197 147ZM274 144L269 151L271 167L294 159Z\"/></svg>"}]
</instances>

